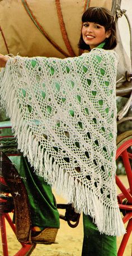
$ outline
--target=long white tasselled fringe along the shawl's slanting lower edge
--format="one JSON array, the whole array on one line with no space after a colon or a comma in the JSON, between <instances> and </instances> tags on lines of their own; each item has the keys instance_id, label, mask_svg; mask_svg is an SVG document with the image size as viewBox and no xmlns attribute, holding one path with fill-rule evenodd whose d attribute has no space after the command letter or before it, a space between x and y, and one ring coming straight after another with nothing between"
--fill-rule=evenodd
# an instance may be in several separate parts
<instances>
[{"instance_id":1,"label":"long white tasselled fringe along the shawl's slanting lower edge","mask_svg":"<svg viewBox=\"0 0 132 256\"><path fill-rule=\"evenodd\" d=\"M24 156L27 156L31 165L34 165L36 174L43 176L45 181L55 187L59 195L63 195L68 203L72 203L76 212L81 213L83 211L84 214L91 215L100 233L112 236L120 236L125 233L119 208L113 209L111 207L108 209L103 202L101 203L98 200L91 189L71 177L68 172L62 171L59 164L55 163L46 151L44 152L44 148L39 145L39 141L32 134L28 123L22 117L8 66L5 71L3 69L2 76L2 104L6 106L7 115L11 118L13 132L17 137L18 149L23 152ZM6 86L8 86L8 90ZM10 95L8 91L10 91Z\"/></svg>"}]
</instances>

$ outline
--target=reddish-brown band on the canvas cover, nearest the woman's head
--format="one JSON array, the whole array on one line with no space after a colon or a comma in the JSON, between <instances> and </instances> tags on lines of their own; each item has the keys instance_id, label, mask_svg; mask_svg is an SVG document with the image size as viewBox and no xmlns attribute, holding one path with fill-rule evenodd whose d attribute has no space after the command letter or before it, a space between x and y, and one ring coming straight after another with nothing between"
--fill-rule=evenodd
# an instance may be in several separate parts
<instances>
[{"instance_id":1,"label":"reddish-brown band on the canvas cover, nearest the woman's head","mask_svg":"<svg viewBox=\"0 0 132 256\"><path fill-rule=\"evenodd\" d=\"M65 46L67 47L67 50L68 50L70 56L74 57L74 56L76 56L76 54L74 53L72 47L70 46L70 42L68 39L68 35L66 32L65 24L64 24L64 20L63 20L62 10L61 10L61 6L60 6L60 0L55 0L55 3L56 3L56 10L58 13L60 30L62 32L62 37L63 37L64 43L65 43Z\"/></svg>"}]
</instances>

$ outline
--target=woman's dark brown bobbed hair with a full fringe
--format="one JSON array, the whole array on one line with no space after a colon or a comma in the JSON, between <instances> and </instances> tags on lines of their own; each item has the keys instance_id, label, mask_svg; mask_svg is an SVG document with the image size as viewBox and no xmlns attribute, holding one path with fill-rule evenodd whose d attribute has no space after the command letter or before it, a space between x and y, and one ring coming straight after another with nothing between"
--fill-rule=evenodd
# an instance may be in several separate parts
<instances>
[{"instance_id":1,"label":"woman's dark brown bobbed hair with a full fringe","mask_svg":"<svg viewBox=\"0 0 132 256\"><path fill-rule=\"evenodd\" d=\"M105 32L107 30L111 30L110 37L105 39L103 49L111 50L116 47L116 25L114 16L109 10L103 7L89 7L82 16L82 23L84 22L92 22L104 26ZM78 47L82 50L90 50L89 45L83 41L82 33L79 39Z\"/></svg>"}]
</instances>

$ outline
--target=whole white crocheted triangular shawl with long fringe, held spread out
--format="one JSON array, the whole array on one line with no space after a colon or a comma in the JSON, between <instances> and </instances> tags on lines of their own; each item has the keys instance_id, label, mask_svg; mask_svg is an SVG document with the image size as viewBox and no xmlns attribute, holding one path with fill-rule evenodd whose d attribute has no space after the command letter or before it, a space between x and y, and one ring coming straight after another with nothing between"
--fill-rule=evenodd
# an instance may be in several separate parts
<instances>
[{"instance_id":1,"label":"whole white crocheted triangular shawl with long fringe, held spread out","mask_svg":"<svg viewBox=\"0 0 132 256\"><path fill-rule=\"evenodd\" d=\"M17 56L1 71L18 148L107 235L125 232L115 185L116 66L114 51L95 48L63 60Z\"/></svg>"}]
</instances>

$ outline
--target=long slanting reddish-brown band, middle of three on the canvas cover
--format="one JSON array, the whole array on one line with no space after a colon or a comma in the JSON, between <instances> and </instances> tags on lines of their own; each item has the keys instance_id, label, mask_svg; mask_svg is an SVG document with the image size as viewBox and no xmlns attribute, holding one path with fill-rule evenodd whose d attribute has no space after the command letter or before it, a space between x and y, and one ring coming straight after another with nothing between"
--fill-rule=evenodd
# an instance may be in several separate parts
<instances>
[{"instance_id":1,"label":"long slanting reddish-brown band, middle of three on the canvas cover","mask_svg":"<svg viewBox=\"0 0 132 256\"><path fill-rule=\"evenodd\" d=\"M40 32L46 37L46 39L48 39L48 41L56 48L56 50L58 50L59 52L61 52L65 57L70 57L65 51L63 51L62 48L60 48L58 46L58 44L56 44L50 37L49 35L45 32L45 30L43 29L43 27L40 25L39 21L37 21L36 17L34 16L34 14L32 13L29 5L27 4L26 0L21 0L22 1L22 5L25 8L27 14L30 16L31 20L33 21L33 23L35 24L35 26L37 27L37 29L40 30Z\"/></svg>"}]
</instances>

